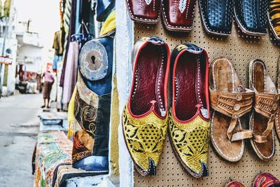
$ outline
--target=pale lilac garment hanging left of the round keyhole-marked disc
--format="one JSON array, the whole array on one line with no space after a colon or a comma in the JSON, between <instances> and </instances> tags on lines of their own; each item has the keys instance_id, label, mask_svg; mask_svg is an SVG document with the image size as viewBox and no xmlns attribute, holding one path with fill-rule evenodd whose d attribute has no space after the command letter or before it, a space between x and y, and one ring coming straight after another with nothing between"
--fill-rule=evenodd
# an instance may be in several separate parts
<instances>
[{"instance_id":1,"label":"pale lilac garment hanging left of the round keyhole-marked disc","mask_svg":"<svg viewBox=\"0 0 280 187\"><path fill-rule=\"evenodd\" d=\"M72 41L69 43L69 51L67 54L67 61L65 67L64 87L63 87L63 103L68 104L71 99L71 95L76 85L77 70L78 70L78 54L79 43L78 41Z\"/></svg>"}]
</instances>

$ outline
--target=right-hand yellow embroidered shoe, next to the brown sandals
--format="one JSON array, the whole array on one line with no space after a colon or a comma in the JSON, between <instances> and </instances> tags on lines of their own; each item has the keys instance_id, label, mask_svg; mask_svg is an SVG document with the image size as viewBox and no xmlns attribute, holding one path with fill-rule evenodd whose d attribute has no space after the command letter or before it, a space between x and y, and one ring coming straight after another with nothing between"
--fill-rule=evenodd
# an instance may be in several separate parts
<instances>
[{"instance_id":1,"label":"right-hand yellow embroidered shoe, next to the brown sandals","mask_svg":"<svg viewBox=\"0 0 280 187\"><path fill-rule=\"evenodd\" d=\"M181 165L196 178L209 174L208 64L207 52L193 44L181 44L172 52L169 139Z\"/></svg>"}]
</instances>

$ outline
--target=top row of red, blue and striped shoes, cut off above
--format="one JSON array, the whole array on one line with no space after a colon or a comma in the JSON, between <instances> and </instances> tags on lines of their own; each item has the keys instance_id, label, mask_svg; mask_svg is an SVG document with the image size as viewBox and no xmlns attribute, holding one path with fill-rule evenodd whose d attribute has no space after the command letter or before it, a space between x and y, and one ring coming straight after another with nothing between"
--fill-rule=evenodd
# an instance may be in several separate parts
<instances>
[{"instance_id":1,"label":"top row of red, blue and striped shoes, cut off above","mask_svg":"<svg viewBox=\"0 0 280 187\"><path fill-rule=\"evenodd\" d=\"M126 0L130 18L137 22L162 22L171 31L193 29L196 0ZM252 36L267 34L267 22L280 41L280 1L278 0L198 0L204 29L209 34L228 36L235 17L242 32ZM161 12L161 13L160 13Z\"/></svg>"}]
</instances>

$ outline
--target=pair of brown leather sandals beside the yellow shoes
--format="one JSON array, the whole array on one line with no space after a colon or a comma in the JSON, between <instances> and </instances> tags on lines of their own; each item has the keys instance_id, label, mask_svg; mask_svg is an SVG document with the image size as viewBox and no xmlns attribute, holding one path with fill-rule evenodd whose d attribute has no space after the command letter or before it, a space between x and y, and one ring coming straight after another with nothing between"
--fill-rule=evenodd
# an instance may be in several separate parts
<instances>
[{"instance_id":1,"label":"pair of brown leather sandals beside the yellow shoes","mask_svg":"<svg viewBox=\"0 0 280 187\"><path fill-rule=\"evenodd\" d=\"M230 162L241 159L244 139L250 139L262 160L269 160L275 152L273 127L274 123L279 127L280 97L264 62L253 60L249 69L251 90L241 83L230 60L218 57L210 64L211 141L216 152ZM244 130L244 116L252 108L249 130Z\"/></svg>"}]
</instances>

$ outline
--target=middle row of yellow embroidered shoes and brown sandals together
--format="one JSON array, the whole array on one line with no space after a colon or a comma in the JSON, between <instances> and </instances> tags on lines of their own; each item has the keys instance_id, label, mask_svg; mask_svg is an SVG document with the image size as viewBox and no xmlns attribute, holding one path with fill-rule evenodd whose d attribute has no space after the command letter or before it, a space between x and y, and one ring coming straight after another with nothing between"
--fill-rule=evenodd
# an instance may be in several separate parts
<instances>
[{"instance_id":1,"label":"middle row of yellow embroidered shoes and brown sandals together","mask_svg":"<svg viewBox=\"0 0 280 187\"><path fill-rule=\"evenodd\" d=\"M276 113L280 97L265 64L261 60L250 63L249 90L230 60L215 58L209 69L208 59L204 49L191 43L176 46L172 55L167 43L158 37L135 44L123 134L141 175L155 174L167 132L176 158L197 178L209 173L209 137L216 152L230 162L241 159L244 139L251 140L260 159L274 155L274 123L280 134ZM168 98L172 98L170 109ZM244 115L250 111L249 130L244 130Z\"/></svg>"}]
</instances>

